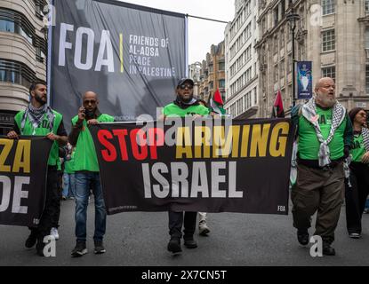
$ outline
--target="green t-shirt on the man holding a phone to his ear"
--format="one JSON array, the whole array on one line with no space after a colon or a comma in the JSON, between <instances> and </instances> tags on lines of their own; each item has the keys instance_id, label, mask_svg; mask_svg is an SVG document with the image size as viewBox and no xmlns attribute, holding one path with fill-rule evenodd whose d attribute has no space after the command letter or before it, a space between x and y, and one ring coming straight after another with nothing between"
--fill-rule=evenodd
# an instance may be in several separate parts
<instances>
[{"instance_id":1,"label":"green t-shirt on the man holding a phone to his ear","mask_svg":"<svg viewBox=\"0 0 369 284\"><path fill-rule=\"evenodd\" d=\"M78 115L72 118L72 124L76 125L77 121ZM100 114L97 121L114 122L114 117L108 114ZM79 132L78 140L76 141L75 152L75 171L100 171L95 146L93 145L92 136L85 120L82 130Z\"/></svg>"}]
</instances>

